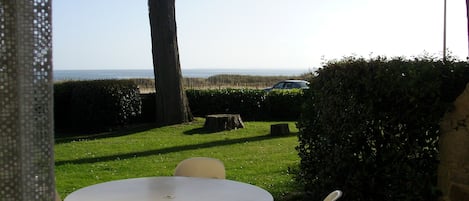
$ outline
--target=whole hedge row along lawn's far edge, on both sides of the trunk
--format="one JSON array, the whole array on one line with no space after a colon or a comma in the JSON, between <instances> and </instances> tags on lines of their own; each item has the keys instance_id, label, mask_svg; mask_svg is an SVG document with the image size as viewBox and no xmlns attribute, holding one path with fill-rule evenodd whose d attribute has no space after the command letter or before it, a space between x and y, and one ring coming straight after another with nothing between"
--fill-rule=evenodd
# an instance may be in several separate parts
<instances>
[{"instance_id":1,"label":"whole hedge row along lawn's far edge, on both sides of the trunk","mask_svg":"<svg viewBox=\"0 0 469 201\"><path fill-rule=\"evenodd\" d=\"M103 131L155 121L155 94L139 94L129 80L70 81L54 88L58 131ZM301 90L190 89L186 94L194 116L236 113L243 120L296 120L303 101Z\"/></svg>"}]
</instances>

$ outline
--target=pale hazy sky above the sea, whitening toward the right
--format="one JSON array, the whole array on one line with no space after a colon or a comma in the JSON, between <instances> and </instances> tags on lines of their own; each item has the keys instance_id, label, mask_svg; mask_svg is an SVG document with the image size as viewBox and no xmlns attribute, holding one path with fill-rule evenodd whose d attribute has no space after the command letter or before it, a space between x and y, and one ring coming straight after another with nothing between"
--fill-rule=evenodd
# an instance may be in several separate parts
<instances>
[{"instance_id":1,"label":"pale hazy sky above the sea, whitening toward the right","mask_svg":"<svg viewBox=\"0 0 469 201\"><path fill-rule=\"evenodd\" d=\"M151 69L147 0L55 0L54 69ZM438 57L443 0L176 0L182 69L314 69L343 56ZM466 59L465 1L447 48Z\"/></svg>"}]
</instances>

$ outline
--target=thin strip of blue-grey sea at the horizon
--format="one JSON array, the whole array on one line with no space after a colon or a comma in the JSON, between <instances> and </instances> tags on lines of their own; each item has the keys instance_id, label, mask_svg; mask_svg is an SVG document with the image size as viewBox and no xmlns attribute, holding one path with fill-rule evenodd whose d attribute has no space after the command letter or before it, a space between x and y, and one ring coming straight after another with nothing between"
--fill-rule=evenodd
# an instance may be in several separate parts
<instances>
[{"instance_id":1,"label":"thin strip of blue-grey sea at the horizon","mask_svg":"<svg viewBox=\"0 0 469 201\"><path fill-rule=\"evenodd\" d=\"M312 72L305 69L182 69L183 77L208 78L213 75L297 76ZM127 70L54 70L54 81L154 78L153 69Z\"/></svg>"}]
</instances>

